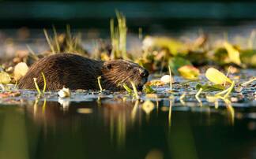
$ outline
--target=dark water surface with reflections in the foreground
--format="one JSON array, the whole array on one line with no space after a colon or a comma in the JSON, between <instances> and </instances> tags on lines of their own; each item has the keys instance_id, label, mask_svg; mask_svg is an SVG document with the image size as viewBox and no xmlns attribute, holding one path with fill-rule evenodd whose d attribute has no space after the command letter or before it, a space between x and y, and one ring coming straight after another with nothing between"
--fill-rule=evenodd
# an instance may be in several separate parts
<instances>
[{"instance_id":1,"label":"dark water surface with reflections in the foreground","mask_svg":"<svg viewBox=\"0 0 256 159\"><path fill-rule=\"evenodd\" d=\"M0 157L252 158L255 124L245 117L253 112L254 107L241 108L235 119L232 105L190 107L175 98L37 98L24 106L0 107Z\"/></svg>"}]
</instances>

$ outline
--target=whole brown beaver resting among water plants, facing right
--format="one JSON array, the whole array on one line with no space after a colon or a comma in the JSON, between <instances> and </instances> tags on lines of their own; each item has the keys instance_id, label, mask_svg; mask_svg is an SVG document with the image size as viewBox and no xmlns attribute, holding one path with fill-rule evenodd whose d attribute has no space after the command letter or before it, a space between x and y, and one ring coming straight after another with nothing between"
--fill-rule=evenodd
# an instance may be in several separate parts
<instances>
[{"instance_id":1,"label":"whole brown beaver resting among water plants, facing right","mask_svg":"<svg viewBox=\"0 0 256 159\"><path fill-rule=\"evenodd\" d=\"M59 90L68 87L71 90L100 90L97 78L103 89L122 91L123 84L131 87L133 81L139 91L147 82L149 72L131 61L96 61L77 54L54 54L36 61L21 78L18 87L36 89L33 78L43 88L43 76L47 90Z\"/></svg>"}]
</instances>

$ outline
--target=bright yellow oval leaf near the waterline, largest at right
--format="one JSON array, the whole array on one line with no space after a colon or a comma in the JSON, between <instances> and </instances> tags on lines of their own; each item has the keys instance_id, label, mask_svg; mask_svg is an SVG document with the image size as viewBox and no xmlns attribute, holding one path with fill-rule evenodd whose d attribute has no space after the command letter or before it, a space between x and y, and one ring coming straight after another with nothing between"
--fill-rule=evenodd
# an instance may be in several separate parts
<instances>
[{"instance_id":1,"label":"bright yellow oval leaf near the waterline, largest at right","mask_svg":"<svg viewBox=\"0 0 256 159\"><path fill-rule=\"evenodd\" d=\"M232 83L232 80L228 79L222 72L215 68L208 68L205 72L206 78L216 84L223 84L225 82Z\"/></svg>"}]
</instances>

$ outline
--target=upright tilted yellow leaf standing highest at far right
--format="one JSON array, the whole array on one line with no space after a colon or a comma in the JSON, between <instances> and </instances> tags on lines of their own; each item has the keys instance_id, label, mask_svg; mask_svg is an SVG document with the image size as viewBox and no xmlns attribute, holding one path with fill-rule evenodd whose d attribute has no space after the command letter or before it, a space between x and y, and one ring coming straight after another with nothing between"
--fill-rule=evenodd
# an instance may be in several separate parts
<instances>
[{"instance_id":1,"label":"upright tilted yellow leaf standing highest at far right","mask_svg":"<svg viewBox=\"0 0 256 159\"><path fill-rule=\"evenodd\" d=\"M237 65L241 65L239 51L235 50L235 48L228 42L224 42L224 47L228 51L229 60L234 62Z\"/></svg>"}]
</instances>

